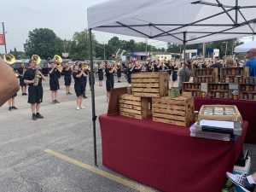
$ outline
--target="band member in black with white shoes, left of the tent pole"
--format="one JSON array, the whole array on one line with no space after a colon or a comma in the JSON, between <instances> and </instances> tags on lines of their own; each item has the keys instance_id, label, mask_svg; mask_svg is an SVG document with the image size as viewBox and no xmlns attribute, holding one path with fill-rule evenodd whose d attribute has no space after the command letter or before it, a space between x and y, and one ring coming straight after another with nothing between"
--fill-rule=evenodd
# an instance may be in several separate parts
<instances>
[{"instance_id":1,"label":"band member in black with white shoes, left of the tent pole","mask_svg":"<svg viewBox=\"0 0 256 192\"><path fill-rule=\"evenodd\" d=\"M82 105L83 102L83 95L84 95L84 77L86 74L84 73L81 68L79 68L79 62L76 62L74 68L73 68L73 79L74 79L74 90L76 92L77 96L77 110L80 108L84 109L84 106Z\"/></svg>"}]
</instances>

